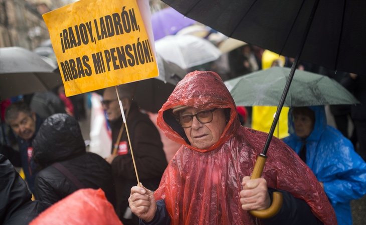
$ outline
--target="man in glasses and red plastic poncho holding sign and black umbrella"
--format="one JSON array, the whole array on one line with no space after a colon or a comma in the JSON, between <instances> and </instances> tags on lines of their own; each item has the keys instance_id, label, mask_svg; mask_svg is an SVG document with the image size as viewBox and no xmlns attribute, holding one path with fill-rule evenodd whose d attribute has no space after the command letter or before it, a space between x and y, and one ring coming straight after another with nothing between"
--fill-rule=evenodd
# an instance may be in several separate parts
<instances>
[{"instance_id":1,"label":"man in glasses and red plastic poncho holding sign and black umbrella","mask_svg":"<svg viewBox=\"0 0 366 225\"><path fill-rule=\"evenodd\" d=\"M250 179L267 134L240 125L234 100L220 76L194 71L175 87L158 112L158 126L182 146L160 185L131 188L129 205L140 224L335 224L323 189L305 163L273 137L261 178ZM280 211L258 219L272 192Z\"/></svg>"}]
</instances>

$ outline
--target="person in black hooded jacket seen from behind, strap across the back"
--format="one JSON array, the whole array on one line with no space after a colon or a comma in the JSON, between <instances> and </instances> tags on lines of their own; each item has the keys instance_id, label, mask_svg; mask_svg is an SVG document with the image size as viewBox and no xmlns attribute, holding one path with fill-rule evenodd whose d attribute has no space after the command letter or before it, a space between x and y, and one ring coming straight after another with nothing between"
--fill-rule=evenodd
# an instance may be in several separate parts
<instances>
[{"instance_id":1,"label":"person in black hooded jacket seen from behind, strap across the back","mask_svg":"<svg viewBox=\"0 0 366 225\"><path fill-rule=\"evenodd\" d=\"M78 121L65 113L48 117L33 140L33 158L40 165L35 179L36 199L51 204L80 188L102 188L115 205L111 166L86 152Z\"/></svg>"}]
</instances>

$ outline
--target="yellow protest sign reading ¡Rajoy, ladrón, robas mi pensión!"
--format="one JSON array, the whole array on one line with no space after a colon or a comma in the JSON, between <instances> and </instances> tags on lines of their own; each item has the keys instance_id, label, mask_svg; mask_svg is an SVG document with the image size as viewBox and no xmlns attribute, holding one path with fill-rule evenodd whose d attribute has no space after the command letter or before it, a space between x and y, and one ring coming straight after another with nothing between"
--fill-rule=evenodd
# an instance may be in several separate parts
<instances>
[{"instance_id":1,"label":"yellow protest sign reading \u00a1Rajoy, ladr\u00f3n, robas mi pensi\u00f3n!","mask_svg":"<svg viewBox=\"0 0 366 225\"><path fill-rule=\"evenodd\" d=\"M158 75L136 0L80 0L43 18L67 96Z\"/></svg>"}]
</instances>

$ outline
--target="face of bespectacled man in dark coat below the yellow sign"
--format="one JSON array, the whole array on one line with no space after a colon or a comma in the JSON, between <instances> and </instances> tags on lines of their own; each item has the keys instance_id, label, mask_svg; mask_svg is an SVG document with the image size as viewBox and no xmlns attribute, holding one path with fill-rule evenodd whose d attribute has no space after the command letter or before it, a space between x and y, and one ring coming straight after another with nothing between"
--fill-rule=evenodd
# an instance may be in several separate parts
<instances>
[{"instance_id":1,"label":"face of bespectacled man in dark coat below the yellow sign","mask_svg":"<svg viewBox=\"0 0 366 225\"><path fill-rule=\"evenodd\" d=\"M113 88L105 89L103 93L103 102L102 106L107 114L107 119L109 121L114 121L122 116L121 109L119 108L117 94Z\"/></svg>"}]
</instances>

